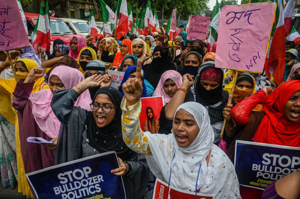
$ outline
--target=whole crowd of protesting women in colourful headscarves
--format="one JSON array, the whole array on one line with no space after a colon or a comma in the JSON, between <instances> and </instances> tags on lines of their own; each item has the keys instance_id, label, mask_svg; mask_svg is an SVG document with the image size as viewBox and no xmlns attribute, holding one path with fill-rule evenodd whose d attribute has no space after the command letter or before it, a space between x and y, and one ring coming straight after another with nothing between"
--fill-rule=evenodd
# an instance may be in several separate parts
<instances>
[{"instance_id":1,"label":"whole crowd of protesting women in colourful headscarves","mask_svg":"<svg viewBox=\"0 0 300 199\"><path fill-rule=\"evenodd\" d=\"M152 198L156 178L216 199L299 198L300 170L263 192L239 186L232 162L235 140L300 147L300 64L275 88L265 73L216 67L217 44L187 40L185 31L173 41L162 28L100 38L96 47L90 36L74 35L69 45L57 39L48 55L32 46L12 51L17 82L0 52L3 187L18 183L34 197L25 173L115 151L112 173L123 176L127 198ZM119 89L108 70L125 72ZM140 98L149 96L163 96L164 106L159 120L160 110L147 108L143 132Z\"/></svg>"}]
</instances>

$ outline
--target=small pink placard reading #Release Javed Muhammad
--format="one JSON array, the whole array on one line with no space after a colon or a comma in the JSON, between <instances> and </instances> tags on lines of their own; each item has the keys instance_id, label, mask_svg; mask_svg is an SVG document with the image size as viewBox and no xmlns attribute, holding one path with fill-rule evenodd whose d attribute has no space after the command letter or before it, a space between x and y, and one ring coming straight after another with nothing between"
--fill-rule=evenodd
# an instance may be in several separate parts
<instances>
[{"instance_id":1,"label":"small pink placard reading #Release Javed Muhammad","mask_svg":"<svg viewBox=\"0 0 300 199\"><path fill-rule=\"evenodd\" d=\"M188 24L187 39L205 41L210 18L192 15Z\"/></svg>"}]
</instances>

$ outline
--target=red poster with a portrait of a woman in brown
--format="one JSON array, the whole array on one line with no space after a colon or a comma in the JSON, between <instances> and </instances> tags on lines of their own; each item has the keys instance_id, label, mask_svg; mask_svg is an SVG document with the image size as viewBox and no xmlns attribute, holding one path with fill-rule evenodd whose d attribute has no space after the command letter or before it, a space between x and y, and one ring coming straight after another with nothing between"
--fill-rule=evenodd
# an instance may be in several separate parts
<instances>
[{"instance_id":1,"label":"red poster with a portrait of a woman in brown","mask_svg":"<svg viewBox=\"0 0 300 199\"><path fill-rule=\"evenodd\" d=\"M158 133L157 125L160 117L160 111L163 108L163 96L143 97L141 98L142 110L140 114L140 124L142 131ZM152 119L152 125L151 120Z\"/></svg>"}]
</instances>

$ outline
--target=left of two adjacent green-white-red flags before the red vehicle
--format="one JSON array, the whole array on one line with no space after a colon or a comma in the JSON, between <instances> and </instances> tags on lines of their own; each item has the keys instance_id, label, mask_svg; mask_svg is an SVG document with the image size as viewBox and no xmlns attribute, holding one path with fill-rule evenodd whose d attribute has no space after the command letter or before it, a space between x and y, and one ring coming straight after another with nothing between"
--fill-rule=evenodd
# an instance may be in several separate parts
<instances>
[{"instance_id":1,"label":"left of two adjacent green-white-red flags before the red vehicle","mask_svg":"<svg viewBox=\"0 0 300 199\"><path fill-rule=\"evenodd\" d=\"M46 51L48 45L47 40L47 31L45 27L45 21L43 16L43 5L40 6L40 14L37 18L37 23L34 26L32 34L32 46L35 50L35 54L38 54L38 46L42 48L43 51Z\"/></svg>"}]
</instances>

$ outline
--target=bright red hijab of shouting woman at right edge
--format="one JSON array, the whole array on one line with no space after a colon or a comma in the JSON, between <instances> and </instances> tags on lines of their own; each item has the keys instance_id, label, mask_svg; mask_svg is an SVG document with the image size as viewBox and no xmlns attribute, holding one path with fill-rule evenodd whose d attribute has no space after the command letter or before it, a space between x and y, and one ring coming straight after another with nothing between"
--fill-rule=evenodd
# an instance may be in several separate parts
<instances>
[{"instance_id":1,"label":"bright red hijab of shouting woman at right edge","mask_svg":"<svg viewBox=\"0 0 300 199\"><path fill-rule=\"evenodd\" d=\"M284 116L288 99L300 90L300 80L290 80L276 88L262 105L266 116L258 126L254 142L300 147L300 120L291 122Z\"/></svg>"}]
</instances>

